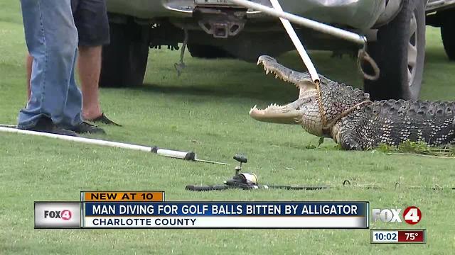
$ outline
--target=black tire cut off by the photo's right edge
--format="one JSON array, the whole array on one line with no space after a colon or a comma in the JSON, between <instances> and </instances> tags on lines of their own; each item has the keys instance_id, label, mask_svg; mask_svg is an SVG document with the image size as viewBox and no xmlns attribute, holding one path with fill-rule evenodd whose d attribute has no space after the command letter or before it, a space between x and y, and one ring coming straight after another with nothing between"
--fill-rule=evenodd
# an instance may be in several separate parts
<instances>
[{"instance_id":1,"label":"black tire cut off by the photo's right edge","mask_svg":"<svg viewBox=\"0 0 455 255\"><path fill-rule=\"evenodd\" d=\"M449 60L455 61L455 11L441 13L441 38Z\"/></svg>"}]
</instances>

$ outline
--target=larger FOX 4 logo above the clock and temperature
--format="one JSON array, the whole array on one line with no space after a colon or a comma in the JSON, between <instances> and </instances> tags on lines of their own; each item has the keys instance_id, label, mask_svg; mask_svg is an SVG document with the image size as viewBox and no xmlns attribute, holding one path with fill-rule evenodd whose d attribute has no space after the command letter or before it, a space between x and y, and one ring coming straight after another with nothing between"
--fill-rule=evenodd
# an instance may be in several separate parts
<instances>
[{"instance_id":1,"label":"larger FOX 4 logo above the clock and temperature","mask_svg":"<svg viewBox=\"0 0 455 255\"><path fill-rule=\"evenodd\" d=\"M373 209L373 222L402 223L400 216L401 209ZM416 206L406 208L403 213L403 219L407 224L415 225L422 220L422 212Z\"/></svg>"}]
</instances>

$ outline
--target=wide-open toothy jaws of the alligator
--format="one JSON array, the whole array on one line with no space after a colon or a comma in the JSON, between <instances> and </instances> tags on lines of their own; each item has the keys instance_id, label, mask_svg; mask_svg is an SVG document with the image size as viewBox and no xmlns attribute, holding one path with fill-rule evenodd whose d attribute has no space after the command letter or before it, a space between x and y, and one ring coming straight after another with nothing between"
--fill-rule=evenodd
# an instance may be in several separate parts
<instances>
[{"instance_id":1,"label":"wide-open toothy jaws of the alligator","mask_svg":"<svg viewBox=\"0 0 455 255\"><path fill-rule=\"evenodd\" d=\"M275 79L281 79L287 83L294 84L300 90L300 94L306 91L308 82L311 82L308 74L295 72L284 67L273 57L261 56L257 60L257 65L259 64L262 64L264 67L265 74L274 74ZM255 120L268 123L297 124L296 120L302 116L299 106L304 101L305 99L299 96L299 99L284 106L279 106L276 103L272 103L264 109L254 106L250 110L250 116Z\"/></svg>"}]
</instances>

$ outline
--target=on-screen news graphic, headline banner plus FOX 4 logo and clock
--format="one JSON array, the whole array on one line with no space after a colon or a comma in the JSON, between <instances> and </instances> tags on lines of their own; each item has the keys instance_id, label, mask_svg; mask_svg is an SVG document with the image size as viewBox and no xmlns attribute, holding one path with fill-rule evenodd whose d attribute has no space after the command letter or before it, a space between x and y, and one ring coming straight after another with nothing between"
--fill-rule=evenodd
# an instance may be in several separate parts
<instances>
[{"instance_id":1,"label":"on-screen news graphic, headline banner plus FOX 4 logo and clock","mask_svg":"<svg viewBox=\"0 0 455 255\"><path fill-rule=\"evenodd\" d=\"M35 202L36 229L369 229L368 202L166 201L164 191L82 191L77 202ZM417 211L418 210L418 211ZM401 209L373 219L401 222ZM422 212L406 208L416 224ZM414 223L414 222L416 223ZM424 243L425 229L370 229L370 242Z\"/></svg>"}]
</instances>

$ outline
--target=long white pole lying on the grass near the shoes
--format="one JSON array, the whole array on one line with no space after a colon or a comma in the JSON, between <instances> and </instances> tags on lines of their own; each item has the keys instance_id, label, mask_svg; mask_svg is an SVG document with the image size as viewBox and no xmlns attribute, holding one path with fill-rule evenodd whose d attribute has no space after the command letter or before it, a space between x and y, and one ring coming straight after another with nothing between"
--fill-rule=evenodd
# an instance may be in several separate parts
<instances>
[{"instance_id":1,"label":"long white pole lying on the grass near the shoes","mask_svg":"<svg viewBox=\"0 0 455 255\"><path fill-rule=\"evenodd\" d=\"M141 145L130 145L130 144L122 143L122 142L111 142L111 141L106 141L106 140L97 140L97 139L90 139L90 138L85 138L85 137L73 137L73 136L69 136L69 135L57 135L57 134L51 134L51 133L47 133L47 132L21 130L18 128L9 128L8 125L1 125L0 132L10 132L10 133L16 133L16 134L23 134L23 135L36 135L36 136L50 137L50 138L65 140L65 141L70 141L70 142L80 142L80 143L85 143L88 145L102 145L102 146L117 147L117 148L122 148L122 149L132 149L132 150L137 150L137 151L141 151L141 152L154 152L161 156L172 157L175 159L186 159L186 160L191 160L191 161L196 161L196 162L205 162L205 163L211 163L211 164L226 165L225 163L212 162L212 161L208 161L208 160L198 159L197 155L194 152L180 152L180 151L175 151L175 150L171 150L171 149L160 149L159 147L146 147L146 146L141 146Z\"/></svg>"}]
</instances>

